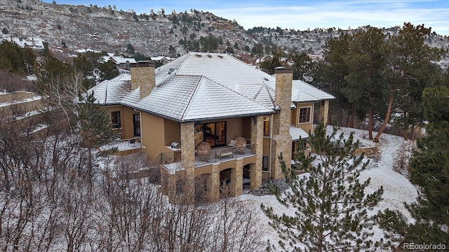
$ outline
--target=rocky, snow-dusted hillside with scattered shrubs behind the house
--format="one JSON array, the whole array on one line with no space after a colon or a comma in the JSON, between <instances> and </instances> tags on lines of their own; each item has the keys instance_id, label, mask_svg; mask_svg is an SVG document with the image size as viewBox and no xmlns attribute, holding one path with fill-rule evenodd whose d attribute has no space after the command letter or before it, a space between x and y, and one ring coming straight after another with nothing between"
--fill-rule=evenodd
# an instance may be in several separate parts
<instances>
[{"instance_id":1,"label":"rocky, snow-dusted hillside with scattered shrubs behind the house","mask_svg":"<svg viewBox=\"0 0 449 252\"><path fill-rule=\"evenodd\" d=\"M394 34L400 27L384 28ZM183 54L188 50L229 52L245 55L269 53L274 47L321 55L326 41L357 29L275 29L254 27L246 31L237 21L213 13L189 10L165 13L154 10L137 15L115 6L72 6L39 0L0 0L0 29L18 36L41 37L51 48L91 48L126 52L132 45L142 55ZM5 33L5 32L4 32ZM448 48L449 39L431 34L431 45ZM257 46L255 46L257 45ZM262 52L262 53L261 53Z\"/></svg>"}]
</instances>

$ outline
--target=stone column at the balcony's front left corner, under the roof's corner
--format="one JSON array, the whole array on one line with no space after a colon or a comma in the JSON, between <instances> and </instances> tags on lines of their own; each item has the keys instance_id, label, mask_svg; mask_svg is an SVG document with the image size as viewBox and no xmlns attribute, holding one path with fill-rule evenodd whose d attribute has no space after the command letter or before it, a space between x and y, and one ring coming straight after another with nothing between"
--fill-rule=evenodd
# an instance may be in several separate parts
<instances>
[{"instance_id":1,"label":"stone column at the balcony's front left corner, under the roof's corner","mask_svg":"<svg viewBox=\"0 0 449 252\"><path fill-rule=\"evenodd\" d=\"M194 200L195 194L195 131L194 123L181 123L181 164L185 169L185 195Z\"/></svg>"}]
</instances>

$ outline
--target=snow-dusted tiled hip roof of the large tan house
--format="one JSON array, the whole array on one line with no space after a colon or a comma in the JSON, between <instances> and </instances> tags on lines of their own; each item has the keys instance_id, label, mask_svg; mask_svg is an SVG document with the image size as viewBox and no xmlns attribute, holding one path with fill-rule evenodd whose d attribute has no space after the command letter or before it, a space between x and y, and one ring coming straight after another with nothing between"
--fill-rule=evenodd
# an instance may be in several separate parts
<instances>
[{"instance_id":1,"label":"snow-dusted tiled hip roof of the large tan house","mask_svg":"<svg viewBox=\"0 0 449 252\"><path fill-rule=\"evenodd\" d=\"M226 54L189 52L156 69L155 80L156 87L142 99L140 87L130 90L128 73L88 92L94 92L99 104L123 104L180 122L264 115L279 109L275 78ZM321 92L314 99L323 98Z\"/></svg>"}]
</instances>

